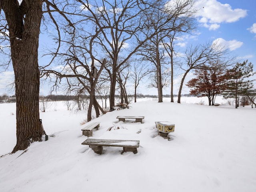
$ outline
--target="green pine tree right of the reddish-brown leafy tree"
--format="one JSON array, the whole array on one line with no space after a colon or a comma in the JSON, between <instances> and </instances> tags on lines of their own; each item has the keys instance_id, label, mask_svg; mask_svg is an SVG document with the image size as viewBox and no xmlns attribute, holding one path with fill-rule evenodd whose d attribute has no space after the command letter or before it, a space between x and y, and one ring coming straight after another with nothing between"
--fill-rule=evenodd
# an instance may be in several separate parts
<instances>
[{"instance_id":1,"label":"green pine tree right of the reddish-brown leafy tree","mask_svg":"<svg viewBox=\"0 0 256 192\"><path fill-rule=\"evenodd\" d=\"M248 60L236 65L226 72L228 81L226 83L225 98L235 98L236 108L239 106L239 96L246 94L249 89L253 87L253 80L250 79L255 72L253 72L252 63Z\"/></svg>"}]
</instances>

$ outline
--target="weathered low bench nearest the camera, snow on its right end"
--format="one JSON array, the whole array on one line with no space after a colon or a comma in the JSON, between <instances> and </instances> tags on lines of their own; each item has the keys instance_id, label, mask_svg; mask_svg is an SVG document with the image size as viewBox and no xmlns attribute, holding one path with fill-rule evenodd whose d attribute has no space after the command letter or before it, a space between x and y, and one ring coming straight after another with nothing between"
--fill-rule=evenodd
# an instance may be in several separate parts
<instances>
[{"instance_id":1,"label":"weathered low bench nearest the camera, snow on its right end","mask_svg":"<svg viewBox=\"0 0 256 192\"><path fill-rule=\"evenodd\" d=\"M123 152L133 152L136 154L140 145L138 140L109 140L109 139L86 139L82 145L89 145L97 154L102 154L103 146L122 147ZM121 153L121 154L122 154Z\"/></svg>"}]
</instances>

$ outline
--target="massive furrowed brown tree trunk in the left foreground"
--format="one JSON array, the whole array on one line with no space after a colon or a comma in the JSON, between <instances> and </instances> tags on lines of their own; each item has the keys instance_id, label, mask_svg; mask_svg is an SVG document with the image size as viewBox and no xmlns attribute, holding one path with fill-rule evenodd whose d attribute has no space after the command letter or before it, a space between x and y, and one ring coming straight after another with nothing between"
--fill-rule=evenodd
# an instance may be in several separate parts
<instances>
[{"instance_id":1,"label":"massive furrowed brown tree trunk in the left foreground","mask_svg":"<svg viewBox=\"0 0 256 192\"><path fill-rule=\"evenodd\" d=\"M42 141L39 118L38 39L42 1L1 0L9 26L11 57L15 75L16 137L12 153L25 150L30 143ZM25 20L23 20L23 16ZM24 22L24 23L23 23Z\"/></svg>"}]
</instances>

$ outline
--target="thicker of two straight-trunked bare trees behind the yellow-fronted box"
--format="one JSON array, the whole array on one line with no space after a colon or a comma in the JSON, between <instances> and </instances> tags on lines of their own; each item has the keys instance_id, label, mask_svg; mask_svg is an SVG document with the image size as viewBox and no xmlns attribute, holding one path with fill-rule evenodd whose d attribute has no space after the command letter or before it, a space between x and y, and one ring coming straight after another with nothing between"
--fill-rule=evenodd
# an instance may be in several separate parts
<instances>
[{"instance_id":1,"label":"thicker of two straight-trunked bare trees behind the yellow-fronted box","mask_svg":"<svg viewBox=\"0 0 256 192\"><path fill-rule=\"evenodd\" d=\"M194 0L160 0L158 6L148 14L146 25L155 34L143 45L140 55L152 62L156 68L156 84L158 89L158 102L162 102L162 66L168 64L164 54L163 42L170 34L186 32L193 25ZM171 54L173 53L173 49ZM172 62L172 60L171 60ZM173 68L172 68L173 72Z\"/></svg>"}]
</instances>

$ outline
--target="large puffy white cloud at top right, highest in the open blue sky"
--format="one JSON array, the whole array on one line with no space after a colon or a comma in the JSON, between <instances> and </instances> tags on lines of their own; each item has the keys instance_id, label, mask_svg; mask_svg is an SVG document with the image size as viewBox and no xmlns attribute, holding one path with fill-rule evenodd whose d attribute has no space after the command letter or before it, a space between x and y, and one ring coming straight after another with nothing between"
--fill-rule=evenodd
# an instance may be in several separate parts
<instances>
[{"instance_id":1,"label":"large puffy white cloud at top right, highest in the open blue sky","mask_svg":"<svg viewBox=\"0 0 256 192\"><path fill-rule=\"evenodd\" d=\"M217 0L198 0L198 22L203 23L209 30L216 30L220 23L236 22L247 15L243 9L232 9L229 4L222 4Z\"/></svg>"}]
</instances>

